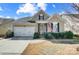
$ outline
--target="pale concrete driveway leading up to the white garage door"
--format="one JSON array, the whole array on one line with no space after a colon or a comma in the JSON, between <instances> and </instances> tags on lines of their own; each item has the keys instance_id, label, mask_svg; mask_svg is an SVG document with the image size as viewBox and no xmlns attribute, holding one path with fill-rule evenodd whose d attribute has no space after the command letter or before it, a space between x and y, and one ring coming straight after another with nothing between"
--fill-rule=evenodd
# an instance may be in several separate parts
<instances>
[{"instance_id":1,"label":"pale concrete driveway leading up to the white garage door","mask_svg":"<svg viewBox=\"0 0 79 59\"><path fill-rule=\"evenodd\" d=\"M0 40L0 55L18 55L28 46L30 40Z\"/></svg>"}]
</instances>

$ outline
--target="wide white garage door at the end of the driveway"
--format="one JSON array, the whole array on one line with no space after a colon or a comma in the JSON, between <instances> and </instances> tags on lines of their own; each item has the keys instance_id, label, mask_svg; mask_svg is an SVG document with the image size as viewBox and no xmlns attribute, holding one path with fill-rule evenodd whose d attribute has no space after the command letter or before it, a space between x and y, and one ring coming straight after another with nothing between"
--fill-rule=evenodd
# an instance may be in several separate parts
<instances>
[{"instance_id":1,"label":"wide white garage door at the end of the driveway","mask_svg":"<svg viewBox=\"0 0 79 59\"><path fill-rule=\"evenodd\" d=\"M35 27L14 27L15 36L33 36Z\"/></svg>"}]
</instances>

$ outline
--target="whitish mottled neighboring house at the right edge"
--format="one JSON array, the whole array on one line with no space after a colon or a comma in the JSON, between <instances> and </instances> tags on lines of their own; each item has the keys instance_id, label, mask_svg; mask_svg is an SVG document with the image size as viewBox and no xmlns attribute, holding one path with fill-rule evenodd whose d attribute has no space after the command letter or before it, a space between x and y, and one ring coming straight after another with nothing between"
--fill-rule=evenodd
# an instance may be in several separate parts
<instances>
[{"instance_id":1,"label":"whitish mottled neighboring house at the right edge","mask_svg":"<svg viewBox=\"0 0 79 59\"><path fill-rule=\"evenodd\" d=\"M63 14L65 26L64 31L72 31L79 35L79 14Z\"/></svg>"}]
</instances>

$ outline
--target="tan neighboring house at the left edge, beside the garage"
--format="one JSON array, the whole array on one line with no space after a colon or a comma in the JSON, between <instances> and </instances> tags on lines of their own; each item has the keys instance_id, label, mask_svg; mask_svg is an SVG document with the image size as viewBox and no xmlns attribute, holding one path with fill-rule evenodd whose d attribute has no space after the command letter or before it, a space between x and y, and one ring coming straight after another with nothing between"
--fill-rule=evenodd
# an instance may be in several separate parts
<instances>
[{"instance_id":1,"label":"tan neighboring house at the left edge, beside the garage","mask_svg":"<svg viewBox=\"0 0 79 59\"><path fill-rule=\"evenodd\" d=\"M12 22L14 19L0 18L0 36L5 36L7 31L12 31Z\"/></svg>"}]
</instances>

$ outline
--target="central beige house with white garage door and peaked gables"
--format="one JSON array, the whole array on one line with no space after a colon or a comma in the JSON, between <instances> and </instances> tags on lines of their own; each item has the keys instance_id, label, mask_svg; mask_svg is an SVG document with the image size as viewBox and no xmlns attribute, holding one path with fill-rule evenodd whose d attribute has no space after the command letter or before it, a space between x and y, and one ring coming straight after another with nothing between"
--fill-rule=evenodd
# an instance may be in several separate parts
<instances>
[{"instance_id":1,"label":"central beige house with white garage door and peaked gables","mask_svg":"<svg viewBox=\"0 0 79 59\"><path fill-rule=\"evenodd\" d=\"M49 16L43 10L27 20L17 20L13 25L14 36L33 36L35 32L63 32L64 20L60 15Z\"/></svg>"}]
</instances>

